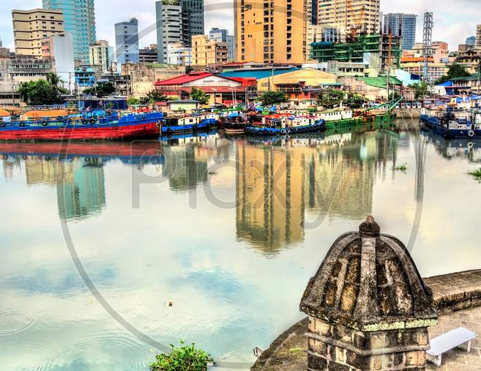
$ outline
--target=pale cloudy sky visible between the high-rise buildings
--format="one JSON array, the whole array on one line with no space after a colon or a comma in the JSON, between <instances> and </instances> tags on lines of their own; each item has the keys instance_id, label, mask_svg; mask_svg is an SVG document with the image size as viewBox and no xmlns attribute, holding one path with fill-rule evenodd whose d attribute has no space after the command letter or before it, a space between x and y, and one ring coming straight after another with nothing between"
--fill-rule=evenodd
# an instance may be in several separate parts
<instances>
[{"instance_id":1,"label":"pale cloudy sky visible between the high-rise buildings","mask_svg":"<svg viewBox=\"0 0 481 371\"><path fill-rule=\"evenodd\" d=\"M381 0L381 11L418 14L416 41L423 39L423 13L434 12L434 41L447 41L451 50L476 34L481 23L481 0ZM0 0L0 37L5 47L14 49L11 23L12 9L41 8L41 0ZM115 45L114 24L135 17L139 20L140 46L157 43L155 32L142 30L155 23L155 0L96 0L97 39L107 39ZM9 21L6 21L9 20ZM233 0L205 0L205 32L212 27L227 28L233 32ZM151 28L151 27L150 27Z\"/></svg>"}]
</instances>

